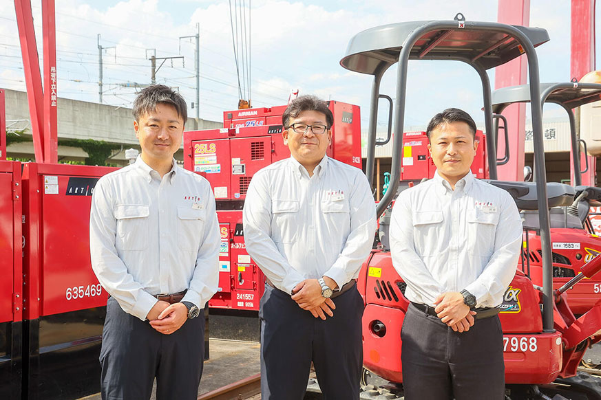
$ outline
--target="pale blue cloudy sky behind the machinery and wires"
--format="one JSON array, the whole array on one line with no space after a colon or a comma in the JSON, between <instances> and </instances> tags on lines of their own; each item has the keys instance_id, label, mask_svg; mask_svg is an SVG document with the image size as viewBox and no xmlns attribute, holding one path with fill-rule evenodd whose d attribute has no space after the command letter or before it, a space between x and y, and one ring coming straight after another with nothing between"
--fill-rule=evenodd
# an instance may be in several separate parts
<instances>
[{"instance_id":1,"label":"pale blue cloudy sky behind the machinery and wires","mask_svg":"<svg viewBox=\"0 0 601 400\"><path fill-rule=\"evenodd\" d=\"M503 0L500 0L503 1ZM40 1L32 1L41 60ZM129 107L135 89L127 82L149 83L149 57L167 60L159 83L178 87L187 102L196 100L195 44L180 36L196 34L200 24L200 118L221 120L238 105L238 76L230 11L242 0L56 1L59 97L98 102L98 34L103 52L103 102ZM286 104L291 89L325 99L359 104L368 120L370 76L339 65L352 36L377 25L400 21L453 19L496 21L497 1L409 0L245 0L251 35L250 89L254 107ZM250 8L249 8L250 4ZM538 47L541 82L569 76L570 1L531 0L530 25L544 27L551 41ZM250 16L249 16L250 15ZM248 27L248 26L247 26ZM240 38L240 35L239 35ZM152 50L154 49L154 50ZM598 51L599 52L599 51ZM160 63L160 62L159 62ZM382 91L394 98L391 68ZM494 74L491 71L491 74ZM242 78L242 77L241 77ZM494 78L491 75L492 82ZM12 1L0 2L0 87L25 90L17 23ZM10 106L9 106L10 107ZM446 107L461 107L482 121L476 72L461 63L412 62L408 76L405 126L421 126ZM547 116L562 115L546 107ZM196 116L196 109L189 108ZM383 122L384 118L381 118Z\"/></svg>"}]
</instances>

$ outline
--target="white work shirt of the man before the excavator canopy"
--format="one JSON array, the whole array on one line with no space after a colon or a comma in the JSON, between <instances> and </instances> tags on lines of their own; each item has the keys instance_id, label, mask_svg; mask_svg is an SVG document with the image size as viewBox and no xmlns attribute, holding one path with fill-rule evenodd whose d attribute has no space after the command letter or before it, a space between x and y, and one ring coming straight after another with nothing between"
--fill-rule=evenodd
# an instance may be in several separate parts
<instances>
[{"instance_id":1,"label":"white work shirt of the man before the excavator canopy","mask_svg":"<svg viewBox=\"0 0 601 400\"><path fill-rule=\"evenodd\" d=\"M392 208L392 264L412 302L434 306L439 294L466 289L477 307L496 307L516 274L521 245L514 199L472 173L452 190L436 172L401 192Z\"/></svg>"}]
</instances>

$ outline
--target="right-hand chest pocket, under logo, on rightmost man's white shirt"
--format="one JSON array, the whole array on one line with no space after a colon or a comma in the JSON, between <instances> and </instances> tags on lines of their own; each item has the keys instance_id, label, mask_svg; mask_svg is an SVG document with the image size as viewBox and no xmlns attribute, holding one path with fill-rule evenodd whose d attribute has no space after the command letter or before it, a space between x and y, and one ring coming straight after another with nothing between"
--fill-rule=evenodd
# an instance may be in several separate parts
<instances>
[{"instance_id":1,"label":"right-hand chest pocket, under logo, on rightmost man's white shirt","mask_svg":"<svg viewBox=\"0 0 601 400\"><path fill-rule=\"evenodd\" d=\"M467 239L470 253L481 254L483 257L492 254L498 219L498 212L483 212L477 208L468 212Z\"/></svg>"}]
</instances>

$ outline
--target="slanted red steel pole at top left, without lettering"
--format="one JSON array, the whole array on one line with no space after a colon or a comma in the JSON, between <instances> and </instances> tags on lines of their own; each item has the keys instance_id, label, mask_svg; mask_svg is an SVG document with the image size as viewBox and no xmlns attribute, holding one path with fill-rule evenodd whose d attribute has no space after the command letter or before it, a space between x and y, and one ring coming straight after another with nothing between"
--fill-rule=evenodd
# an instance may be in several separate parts
<instances>
[{"instance_id":1,"label":"slanted red steel pole at top left, without lettering","mask_svg":"<svg viewBox=\"0 0 601 400\"><path fill-rule=\"evenodd\" d=\"M44 162L43 91L30 0L14 0L36 162Z\"/></svg>"}]
</instances>

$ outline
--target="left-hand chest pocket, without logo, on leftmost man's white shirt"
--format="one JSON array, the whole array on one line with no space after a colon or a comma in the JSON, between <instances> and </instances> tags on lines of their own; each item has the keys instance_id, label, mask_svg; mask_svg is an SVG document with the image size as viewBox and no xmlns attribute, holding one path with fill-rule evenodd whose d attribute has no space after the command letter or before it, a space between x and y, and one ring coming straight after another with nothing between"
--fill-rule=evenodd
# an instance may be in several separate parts
<instances>
[{"instance_id":1,"label":"left-hand chest pocket, without logo, on leftmost man's white shirt","mask_svg":"<svg viewBox=\"0 0 601 400\"><path fill-rule=\"evenodd\" d=\"M148 247L149 215L149 205L115 205L117 240L123 243L124 250L144 250Z\"/></svg>"}]
</instances>

